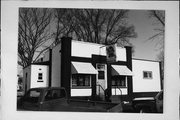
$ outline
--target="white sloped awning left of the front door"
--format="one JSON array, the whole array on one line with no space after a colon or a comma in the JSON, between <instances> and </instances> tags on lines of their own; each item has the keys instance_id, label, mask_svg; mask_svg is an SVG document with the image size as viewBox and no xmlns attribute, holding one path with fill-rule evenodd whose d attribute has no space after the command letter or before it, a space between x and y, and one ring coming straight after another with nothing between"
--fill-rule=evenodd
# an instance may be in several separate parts
<instances>
[{"instance_id":1,"label":"white sloped awning left of the front door","mask_svg":"<svg viewBox=\"0 0 180 120\"><path fill-rule=\"evenodd\" d=\"M97 70L91 63L84 62L71 62L72 74L98 74Z\"/></svg>"}]
</instances>

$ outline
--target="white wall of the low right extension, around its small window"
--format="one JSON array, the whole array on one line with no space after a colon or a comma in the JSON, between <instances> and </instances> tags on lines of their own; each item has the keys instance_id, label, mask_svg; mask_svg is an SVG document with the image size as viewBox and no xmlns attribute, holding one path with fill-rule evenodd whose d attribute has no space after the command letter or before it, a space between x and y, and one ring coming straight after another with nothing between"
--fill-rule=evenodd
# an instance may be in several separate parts
<instances>
[{"instance_id":1,"label":"white wall of the low right extension, around its small window","mask_svg":"<svg viewBox=\"0 0 180 120\"><path fill-rule=\"evenodd\" d=\"M133 92L160 91L159 62L132 60ZM143 71L152 71L152 79L144 79Z\"/></svg>"}]
</instances>

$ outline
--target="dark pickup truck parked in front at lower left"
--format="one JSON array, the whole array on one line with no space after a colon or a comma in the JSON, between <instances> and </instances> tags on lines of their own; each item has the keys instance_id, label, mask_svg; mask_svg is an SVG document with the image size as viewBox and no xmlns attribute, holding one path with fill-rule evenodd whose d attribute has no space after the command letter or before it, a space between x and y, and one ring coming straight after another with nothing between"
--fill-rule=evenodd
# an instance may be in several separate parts
<instances>
[{"instance_id":1,"label":"dark pickup truck parked in front at lower left","mask_svg":"<svg viewBox=\"0 0 180 120\"><path fill-rule=\"evenodd\" d=\"M117 103L69 99L62 87L32 88L19 99L18 110L122 112Z\"/></svg>"}]
</instances>

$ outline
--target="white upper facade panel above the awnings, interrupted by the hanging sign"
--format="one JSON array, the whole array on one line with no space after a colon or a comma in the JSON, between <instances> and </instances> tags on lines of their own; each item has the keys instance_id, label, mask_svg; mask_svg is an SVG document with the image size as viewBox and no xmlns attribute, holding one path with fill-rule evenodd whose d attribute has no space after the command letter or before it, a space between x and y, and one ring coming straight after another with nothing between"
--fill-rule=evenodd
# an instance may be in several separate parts
<instances>
[{"instance_id":1,"label":"white upper facade panel above the awnings, interrupted by the hanging sign","mask_svg":"<svg viewBox=\"0 0 180 120\"><path fill-rule=\"evenodd\" d=\"M91 58L92 54L106 56L106 47L101 44L72 41L71 55ZM126 61L126 49L116 47L117 61Z\"/></svg>"}]
</instances>

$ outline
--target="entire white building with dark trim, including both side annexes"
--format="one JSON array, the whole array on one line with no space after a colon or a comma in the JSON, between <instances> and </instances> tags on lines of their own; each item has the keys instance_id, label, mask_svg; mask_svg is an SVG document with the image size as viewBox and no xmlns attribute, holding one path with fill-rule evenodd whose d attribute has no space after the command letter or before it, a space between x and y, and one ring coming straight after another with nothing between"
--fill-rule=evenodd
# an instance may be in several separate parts
<instances>
[{"instance_id":1,"label":"entire white building with dark trim, including both side annexes","mask_svg":"<svg viewBox=\"0 0 180 120\"><path fill-rule=\"evenodd\" d=\"M120 96L125 101L154 96L161 90L160 63L132 59L128 46L105 46L64 37L41 61L24 69L26 90L61 86L70 97Z\"/></svg>"}]
</instances>

